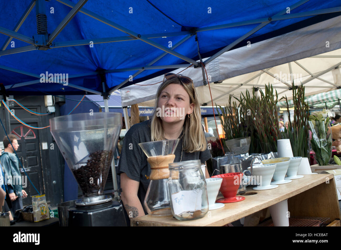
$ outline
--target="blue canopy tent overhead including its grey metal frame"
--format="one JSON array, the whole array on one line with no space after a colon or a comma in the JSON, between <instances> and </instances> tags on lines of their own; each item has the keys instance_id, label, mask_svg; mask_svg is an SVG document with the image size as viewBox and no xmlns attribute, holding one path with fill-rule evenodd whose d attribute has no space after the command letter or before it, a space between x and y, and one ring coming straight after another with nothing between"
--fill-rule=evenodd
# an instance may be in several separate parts
<instances>
[{"instance_id":1,"label":"blue canopy tent overhead including its grey metal frame","mask_svg":"<svg viewBox=\"0 0 341 250\"><path fill-rule=\"evenodd\" d=\"M204 66L224 52L341 15L339 0L0 2L2 95L91 93L106 112L116 89L191 66L206 85Z\"/></svg>"}]
</instances>

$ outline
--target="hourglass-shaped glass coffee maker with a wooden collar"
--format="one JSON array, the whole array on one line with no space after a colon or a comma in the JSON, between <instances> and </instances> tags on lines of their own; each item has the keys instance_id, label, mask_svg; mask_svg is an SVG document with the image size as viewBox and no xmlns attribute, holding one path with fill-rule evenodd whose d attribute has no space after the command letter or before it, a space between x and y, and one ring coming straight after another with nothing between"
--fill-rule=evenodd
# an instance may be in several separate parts
<instances>
[{"instance_id":1,"label":"hourglass-shaped glass coffee maker with a wooden collar","mask_svg":"<svg viewBox=\"0 0 341 250\"><path fill-rule=\"evenodd\" d=\"M144 206L149 215L155 217L172 216L168 195L168 164L175 159L175 149L179 139L150 141L138 146L146 154L150 164L150 183L147 189Z\"/></svg>"}]
</instances>

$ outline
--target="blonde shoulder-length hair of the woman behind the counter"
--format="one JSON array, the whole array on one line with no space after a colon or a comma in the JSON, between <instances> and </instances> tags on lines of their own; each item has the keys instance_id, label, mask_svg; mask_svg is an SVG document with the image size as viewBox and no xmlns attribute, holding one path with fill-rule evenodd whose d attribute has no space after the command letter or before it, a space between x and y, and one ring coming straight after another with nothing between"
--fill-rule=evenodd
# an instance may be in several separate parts
<instances>
[{"instance_id":1,"label":"blonde shoulder-length hair of the woman behind the counter","mask_svg":"<svg viewBox=\"0 0 341 250\"><path fill-rule=\"evenodd\" d=\"M162 90L169 84L181 85L190 97L190 104L194 104L192 114L190 116L186 114L183 123L183 149L187 152L204 151L207 148L207 141L201 123L201 111L197 93L195 89L193 89L192 84L183 84L178 77L165 80L158 88L155 97L154 112L150 122L151 140L156 141L165 139L161 118L157 116L157 107Z\"/></svg>"}]
</instances>

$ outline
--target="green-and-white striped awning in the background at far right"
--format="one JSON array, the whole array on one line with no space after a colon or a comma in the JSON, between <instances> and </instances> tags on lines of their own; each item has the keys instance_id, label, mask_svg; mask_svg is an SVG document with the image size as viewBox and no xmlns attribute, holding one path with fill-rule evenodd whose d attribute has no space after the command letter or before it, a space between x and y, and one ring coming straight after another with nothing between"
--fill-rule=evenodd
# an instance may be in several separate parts
<instances>
[{"instance_id":1,"label":"green-and-white striped awning in the background at far right","mask_svg":"<svg viewBox=\"0 0 341 250\"><path fill-rule=\"evenodd\" d=\"M341 102L341 89L336 89L305 98L309 107L325 108L327 103L327 109L331 109L333 106L338 105ZM288 100L289 107L293 107L293 100ZM286 107L286 102L278 102L277 107Z\"/></svg>"}]
</instances>

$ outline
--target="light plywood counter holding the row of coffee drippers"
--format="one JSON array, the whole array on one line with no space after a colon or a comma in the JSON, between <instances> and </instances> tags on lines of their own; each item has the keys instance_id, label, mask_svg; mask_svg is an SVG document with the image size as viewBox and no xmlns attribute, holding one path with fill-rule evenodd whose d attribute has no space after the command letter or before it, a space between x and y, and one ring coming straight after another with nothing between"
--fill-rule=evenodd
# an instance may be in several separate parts
<instances>
[{"instance_id":1,"label":"light plywood counter holding the row of coffee drippers","mask_svg":"<svg viewBox=\"0 0 341 250\"><path fill-rule=\"evenodd\" d=\"M333 174L306 174L301 179L270 190L256 191L249 186L247 192L257 194L208 211L201 219L180 221L171 216L157 218L145 215L132 219L131 226L224 226L285 199L288 199L290 216L329 217L331 221L341 217Z\"/></svg>"}]
</instances>

